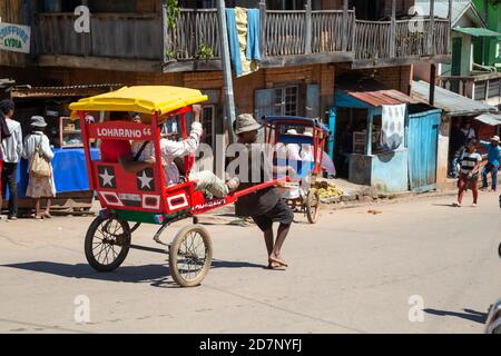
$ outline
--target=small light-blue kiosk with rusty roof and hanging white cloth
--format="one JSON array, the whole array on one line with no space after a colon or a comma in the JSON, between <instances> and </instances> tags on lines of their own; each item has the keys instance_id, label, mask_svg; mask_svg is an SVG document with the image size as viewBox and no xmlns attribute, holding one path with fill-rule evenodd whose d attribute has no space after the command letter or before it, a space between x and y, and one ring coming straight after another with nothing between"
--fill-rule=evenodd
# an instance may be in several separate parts
<instances>
[{"instance_id":1,"label":"small light-blue kiosk with rusty roof and hanging white cloth","mask_svg":"<svg viewBox=\"0 0 501 356\"><path fill-rule=\"evenodd\" d=\"M434 189L440 110L383 87L374 81L336 87L336 138L345 178L386 192ZM420 135L426 140L411 139Z\"/></svg>"}]
</instances>

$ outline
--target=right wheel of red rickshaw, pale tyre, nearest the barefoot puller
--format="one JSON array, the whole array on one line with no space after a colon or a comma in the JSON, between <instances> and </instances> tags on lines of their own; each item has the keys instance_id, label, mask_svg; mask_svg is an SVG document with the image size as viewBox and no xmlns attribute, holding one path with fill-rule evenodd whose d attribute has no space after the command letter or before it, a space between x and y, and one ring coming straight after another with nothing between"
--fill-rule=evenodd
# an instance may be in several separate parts
<instances>
[{"instance_id":1,"label":"right wheel of red rickshaw, pale tyre, nearest the barefoot puller","mask_svg":"<svg viewBox=\"0 0 501 356\"><path fill-rule=\"evenodd\" d=\"M169 249L169 268L179 286L198 286L207 276L212 261L213 244L204 227L190 225L176 235Z\"/></svg>"}]
</instances>

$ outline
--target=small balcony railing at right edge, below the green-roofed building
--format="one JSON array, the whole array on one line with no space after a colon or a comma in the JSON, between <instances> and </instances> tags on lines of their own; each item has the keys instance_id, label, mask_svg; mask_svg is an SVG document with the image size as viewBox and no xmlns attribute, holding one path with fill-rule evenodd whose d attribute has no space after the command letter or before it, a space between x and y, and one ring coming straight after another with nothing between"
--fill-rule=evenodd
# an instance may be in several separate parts
<instances>
[{"instance_id":1,"label":"small balcony railing at right edge, below the green-roofed building","mask_svg":"<svg viewBox=\"0 0 501 356\"><path fill-rule=\"evenodd\" d=\"M489 101L501 98L501 73L498 72L478 73L469 77L440 77L439 85L473 100Z\"/></svg>"}]
</instances>

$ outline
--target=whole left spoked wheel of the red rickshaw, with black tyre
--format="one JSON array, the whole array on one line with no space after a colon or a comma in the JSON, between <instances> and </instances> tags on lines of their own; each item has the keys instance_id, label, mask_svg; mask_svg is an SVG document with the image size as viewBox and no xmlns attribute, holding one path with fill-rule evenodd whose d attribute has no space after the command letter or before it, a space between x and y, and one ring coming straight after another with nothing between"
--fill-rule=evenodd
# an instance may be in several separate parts
<instances>
[{"instance_id":1,"label":"whole left spoked wheel of the red rickshaw, with black tyre","mask_svg":"<svg viewBox=\"0 0 501 356\"><path fill-rule=\"evenodd\" d=\"M120 267L129 253L130 228L127 221L97 217L86 235L85 251L90 267L112 271Z\"/></svg>"}]
</instances>

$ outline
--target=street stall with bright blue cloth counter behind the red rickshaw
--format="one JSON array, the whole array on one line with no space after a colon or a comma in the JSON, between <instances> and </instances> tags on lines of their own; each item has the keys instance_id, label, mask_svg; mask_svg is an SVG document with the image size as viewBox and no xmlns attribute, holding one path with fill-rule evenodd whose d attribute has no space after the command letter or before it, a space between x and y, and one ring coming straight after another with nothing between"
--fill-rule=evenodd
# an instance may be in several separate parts
<instances>
[{"instance_id":1,"label":"street stall with bright blue cloth counter behind the red rickshaw","mask_svg":"<svg viewBox=\"0 0 501 356\"><path fill-rule=\"evenodd\" d=\"M66 211L87 211L91 208L94 192L89 189L86 158L79 121L70 119L68 103L82 97L109 91L118 85L30 88L13 87L9 96L14 100L14 119L21 122L23 136L30 131L31 116L43 116L48 126L45 134L49 137L55 158L51 161L56 191L52 208ZM95 118L99 119L99 118ZM91 150L99 159L99 150ZM21 160L18 170L19 208L28 210L33 201L26 197L28 187L28 161ZM7 198L9 192L7 192ZM4 207L7 201L3 202Z\"/></svg>"}]
</instances>

